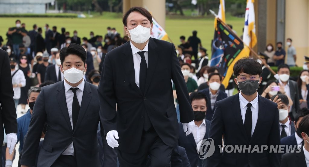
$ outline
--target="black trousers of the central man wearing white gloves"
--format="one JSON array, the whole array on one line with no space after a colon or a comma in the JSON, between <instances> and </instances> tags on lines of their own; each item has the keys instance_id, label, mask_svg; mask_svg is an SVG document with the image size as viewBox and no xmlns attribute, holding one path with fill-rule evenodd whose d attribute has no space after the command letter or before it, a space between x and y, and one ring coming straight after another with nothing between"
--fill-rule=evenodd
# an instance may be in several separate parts
<instances>
[{"instance_id":1,"label":"black trousers of the central man wearing white gloves","mask_svg":"<svg viewBox=\"0 0 309 167\"><path fill-rule=\"evenodd\" d=\"M151 127L143 131L141 144L136 153L118 150L120 167L170 167L173 147L167 146Z\"/></svg>"}]
</instances>

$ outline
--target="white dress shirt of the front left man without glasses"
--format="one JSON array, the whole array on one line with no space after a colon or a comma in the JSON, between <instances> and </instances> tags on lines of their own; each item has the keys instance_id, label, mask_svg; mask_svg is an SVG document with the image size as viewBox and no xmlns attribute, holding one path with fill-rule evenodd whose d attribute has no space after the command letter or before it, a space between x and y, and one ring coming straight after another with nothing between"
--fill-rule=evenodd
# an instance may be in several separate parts
<instances>
[{"instance_id":1,"label":"white dress shirt of the front left man without glasses","mask_svg":"<svg viewBox=\"0 0 309 167\"><path fill-rule=\"evenodd\" d=\"M82 99L83 99L84 87L85 87L84 80L77 87L72 87L66 82L66 80L64 81L64 90L66 94L66 105L68 107L72 129L73 129L72 104L73 104L74 93L72 92L72 90L70 90L70 88L78 88L78 90L76 90L76 96L77 96L79 106L80 106L82 103ZM69 145L68 148L66 148L64 152L62 152L62 155L74 155L73 142Z\"/></svg>"}]
</instances>

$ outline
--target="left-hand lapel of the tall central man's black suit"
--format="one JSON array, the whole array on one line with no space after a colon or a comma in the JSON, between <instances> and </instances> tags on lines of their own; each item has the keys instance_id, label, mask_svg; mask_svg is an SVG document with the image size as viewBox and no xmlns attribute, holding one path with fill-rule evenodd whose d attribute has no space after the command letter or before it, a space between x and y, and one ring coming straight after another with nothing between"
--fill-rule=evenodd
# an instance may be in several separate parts
<instances>
[{"instance_id":1,"label":"left-hand lapel of the tall central man's black suit","mask_svg":"<svg viewBox=\"0 0 309 167\"><path fill-rule=\"evenodd\" d=\"M137 91L139 94L142 95L142 91L139 89L139 87L135 83L135 71L134 71L134 63L133 63L133 55L132 55L132 49L130 46L130 42L125 43L125 49L124 52L122 52L122 64L124 67L124 71L126 73L127 78L129 79L129 83L132 86L132 89ZM149 57L149 54L148 54ZM149 62L149 59L148 59Z\"/></svg>"}]
</instances>

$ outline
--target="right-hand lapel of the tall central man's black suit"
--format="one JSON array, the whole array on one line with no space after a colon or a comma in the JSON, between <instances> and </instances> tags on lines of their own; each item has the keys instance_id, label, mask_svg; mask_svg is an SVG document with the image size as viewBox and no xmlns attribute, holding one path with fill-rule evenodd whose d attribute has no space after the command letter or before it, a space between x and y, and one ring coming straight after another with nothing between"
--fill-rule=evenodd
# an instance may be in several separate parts
<instances>
[{"instance_id":1,"label":"right-hand lapel of the tall central man's black suit","mask_svg":"<svg viewBox=\"0 0 309 167\"><path fill-rule=\"evenodd\" d=\"M157 54L157 44L154 40L149 38L148 43L148 67L147 67L147 77L146 77L146 87L145 87L145 94L147 92L147 89L151 83L151 79L153 76L153 73L155 72L155 68L157 65L159 54Z\"/></svg>"}]
</instances>

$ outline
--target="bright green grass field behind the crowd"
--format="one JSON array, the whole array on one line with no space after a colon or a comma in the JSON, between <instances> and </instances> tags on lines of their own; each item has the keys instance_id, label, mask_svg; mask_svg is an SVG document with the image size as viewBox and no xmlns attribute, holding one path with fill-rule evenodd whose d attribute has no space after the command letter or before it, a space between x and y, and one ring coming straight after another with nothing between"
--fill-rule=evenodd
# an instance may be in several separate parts
<instances>
[{"instance_id":1,"label":"bright green grass field behind the crowd","mask_svg":"<svg viewBox=\"0 0 309 167\"><path fill-rule=\"evenodd\" d=\"M15 27L15 20L20 19L22 23L26 23L26 29L32 30L32 25L37 24L38 27L44 27L45 23L48 23L50 27L57 26L60 32L61 27L65 27L66 31L70 31L70 35L73 35L73 31L78 31L78 36L83 38L89 38L89 32L94 31L95 35L105 35L106 27L115 27L117 31L124 35L122 14L104 12L103 16L94 15L92 18L32 18L32 17L2 17L0 18L0 35L3 39L6 39L6 32L9 27ZM236 18L227 16L226 22L233 25L233 29L238 35L241 35L243 28L243 18ZM165 23L165 31L171 38L171 40L179 45L179 37L184 35L188 38L192 35L192 31L197 30L197 36L201 39L202 45L208 49L210 55L210 43L214 36L214 19L211 16L205 18L190 18L181 19L181 17L167 17ZM43 37L44 29L43 29Z\"/></svg>"}]
</instances>

